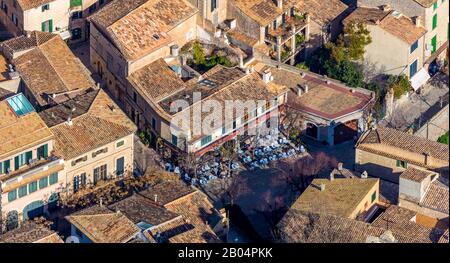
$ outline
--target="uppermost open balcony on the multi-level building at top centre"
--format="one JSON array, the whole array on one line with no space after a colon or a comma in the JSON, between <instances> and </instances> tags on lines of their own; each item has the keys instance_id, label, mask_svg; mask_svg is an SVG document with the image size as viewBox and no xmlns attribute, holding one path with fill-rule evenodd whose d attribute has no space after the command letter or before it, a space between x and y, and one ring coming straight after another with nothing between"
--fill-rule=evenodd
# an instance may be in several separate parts
<instances>
[{"instance_id":1,"label":"uppermost open balcony on the multi-level building at top centre","mask_svg":"<svg viewBox=\"0 0 450 263\"><path fill-rule=\"evenodd\" d=\"M293 36L300 33L306 26L308 26L309 16L308 15L295 15L293 17L288 17L285 23L279 26L277 29L269 29L267 32L265 40L274 45L284 44L290 40ZM278 42L281 40L281 43Z\"/></svg>"}]
</instances>

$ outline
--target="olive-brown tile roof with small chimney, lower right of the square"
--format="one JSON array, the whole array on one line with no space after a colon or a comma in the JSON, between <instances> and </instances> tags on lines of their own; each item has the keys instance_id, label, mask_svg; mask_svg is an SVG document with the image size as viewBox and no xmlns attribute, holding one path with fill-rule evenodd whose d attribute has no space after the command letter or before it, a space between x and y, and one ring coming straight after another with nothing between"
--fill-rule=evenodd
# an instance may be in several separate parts
<instances>
[{"instance_id":1,"label":"olive-brown tile roof with small chimney, lower right of the square","mask_svg":"<svg viewBox=\"0 0 450 263\"><path fill-rule=\"evenodd\" d=\"M357 206L368 196L379 183L378 179L339 178L314 179L310 186L292 205L293 209L326 213L342 217L350 217ZM325 190L320 190L320 185ZM379 191L378 188L375 189Z\"/></svg>"}]
</instances>

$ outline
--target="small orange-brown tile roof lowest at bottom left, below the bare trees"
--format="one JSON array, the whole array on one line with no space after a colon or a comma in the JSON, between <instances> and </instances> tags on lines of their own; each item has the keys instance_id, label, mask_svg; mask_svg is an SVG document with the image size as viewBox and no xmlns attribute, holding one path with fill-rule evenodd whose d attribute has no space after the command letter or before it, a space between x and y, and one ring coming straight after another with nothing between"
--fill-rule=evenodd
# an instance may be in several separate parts
<instances>
[{"instance_id":1,"label":"small orange-brown tile roof lowest at bottom left, below the bare trees","mask_svg":"<svg viewBox=\"0 0 450 263\"><path fill-rule=\"evenodd\" d=\"M126 243L140 232L125 215L107 208L91 208L66 219L94 243Z\"/></svg>"}]
</instances>

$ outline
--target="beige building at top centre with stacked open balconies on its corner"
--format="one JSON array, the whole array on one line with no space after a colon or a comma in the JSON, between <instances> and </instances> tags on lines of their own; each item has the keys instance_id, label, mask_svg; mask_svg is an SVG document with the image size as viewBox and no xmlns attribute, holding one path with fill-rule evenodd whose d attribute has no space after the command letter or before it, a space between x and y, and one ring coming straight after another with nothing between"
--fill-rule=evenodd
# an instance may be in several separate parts
<instances>
[{"instance_id":1,"label":"beige building at top centre with stacked open balconies on its corner","mask_svg":"<svg viewBox=\"0 0 450 263\"><path fill-rule=\"evenodd\" d=\"M309 40L310 15L297 7L299 0L230 0L228 18L238 34L253 39L253 50L277 61L294 63ZM243 37L239 37L243 38ZM249 42L249 41L246 41Z\"/></svg>"}]
</instances>

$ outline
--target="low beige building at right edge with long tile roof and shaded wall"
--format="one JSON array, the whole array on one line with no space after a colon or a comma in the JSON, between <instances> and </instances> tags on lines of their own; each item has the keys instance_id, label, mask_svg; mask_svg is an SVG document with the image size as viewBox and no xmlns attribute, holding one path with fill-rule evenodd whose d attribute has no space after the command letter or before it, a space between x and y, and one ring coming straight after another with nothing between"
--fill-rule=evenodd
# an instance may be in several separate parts
<instances>
[{"instance_id":1,"label":"low beige building at right edge with long tile roof and shaded wall","mask_svg":"<svg viewBox=\"0 0 450 263\"><path fill-rule=\"evenodd\" d=\"M448 174L448 145L391 128L372 128L356 144L355 169L399 183L408 168Z\"/></svg>"}]
</instances>

